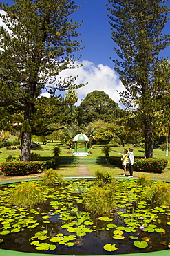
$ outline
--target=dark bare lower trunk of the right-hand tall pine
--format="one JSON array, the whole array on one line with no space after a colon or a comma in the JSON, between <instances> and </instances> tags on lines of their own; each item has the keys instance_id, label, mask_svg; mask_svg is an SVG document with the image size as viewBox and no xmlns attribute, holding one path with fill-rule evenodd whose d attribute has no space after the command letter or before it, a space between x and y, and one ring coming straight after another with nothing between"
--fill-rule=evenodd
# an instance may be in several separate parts
<instances>
[{"instance_id":1,"label":"dark bare lower trunk of the right-hand tall pine","mask_svg":"<svg viewBox=\"0 0 170 256\"><path fill-rule=\"evenodd\" d=\"M147 116L145 122L145 157L153 158L153 138L151 116Z\"/></svg>"}]
</instances>

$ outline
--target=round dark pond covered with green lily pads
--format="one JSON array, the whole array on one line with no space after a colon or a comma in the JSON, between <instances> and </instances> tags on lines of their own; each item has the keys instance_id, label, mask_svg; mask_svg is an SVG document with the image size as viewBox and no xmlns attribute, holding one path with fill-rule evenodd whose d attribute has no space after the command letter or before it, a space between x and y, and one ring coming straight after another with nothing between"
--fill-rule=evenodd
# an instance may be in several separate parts
<instances>
[{"instance_id":1,"label":"round dark pond covered with green lily pads","mask_svg":"<svg viewBox=\"0 0 170 256\"><path fill-rule=\"evenodd\" d=\"M45 203L34 208L10 205L9 191L16 185L1 188L0 248L57 255L167 250L169 205L159 205L155 199L151 203L148 193L151 190L153 194L157 184L142 186L134 180L117 180L103 185L104 190L111 189L116 206L107 214L89 212L90 195L94 200L92 188L96 199L98 196L94 181L66 181L56 188L43 186ZM102 196L100 200L105 205Z\"/></svg>"}]
</instances>

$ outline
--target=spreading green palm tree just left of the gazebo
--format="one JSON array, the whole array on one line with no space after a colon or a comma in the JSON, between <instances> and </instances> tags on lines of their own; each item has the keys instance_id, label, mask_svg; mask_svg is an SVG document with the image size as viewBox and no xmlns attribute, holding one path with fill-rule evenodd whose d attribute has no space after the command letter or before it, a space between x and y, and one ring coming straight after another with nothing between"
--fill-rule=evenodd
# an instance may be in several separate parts
<instances>
[{"instance_id":1,"label":"spreading green palm tree just left of the gazebo","mask_svg":"<svg viewBox=\"0 0 170 256\"><path fill-rule=\"evenodd\" d=\"M61 134L61 141L67 145L70 145L70 149L72 149L72 143L73 143L73 139L76 136L76 134L78 134L79 131L79 127L78 125L65 125L65 127L63 128L63 134Z\"/></svg>"}]
</instances>

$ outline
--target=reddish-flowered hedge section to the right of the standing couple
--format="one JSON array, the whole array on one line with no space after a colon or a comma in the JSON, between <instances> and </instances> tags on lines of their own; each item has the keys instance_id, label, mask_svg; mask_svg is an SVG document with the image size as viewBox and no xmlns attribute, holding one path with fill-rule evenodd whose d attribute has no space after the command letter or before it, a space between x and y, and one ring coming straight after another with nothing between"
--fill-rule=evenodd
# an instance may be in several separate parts
<instances>
[{"instance_id":1,"label":"reddish-flowered hedge section to the right of the standing couple","mask_svg":"<svg viewBox=\"0 0 170 256\"><path fill-rule=\"evenodd\" d=\"M167 163L167 159L163 158L135 159L134 170L159 173L164 170L164 168L167 166Z\"/></svg>"}]
</instances>

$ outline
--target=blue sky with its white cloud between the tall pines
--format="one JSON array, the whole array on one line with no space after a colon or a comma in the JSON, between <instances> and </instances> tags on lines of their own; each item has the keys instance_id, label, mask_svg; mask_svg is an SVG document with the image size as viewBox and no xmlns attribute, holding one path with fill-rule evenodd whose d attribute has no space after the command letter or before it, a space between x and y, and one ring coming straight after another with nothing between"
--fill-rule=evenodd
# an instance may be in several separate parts
<instances>
[{"instance_id":1,"label":"blue sky with its white cloud between the tall pines","mask_svg":"<svg viewBox=\"0 0 170 256\"><path fill-rule=\"evenodd\" d=\"M10 0L0 0L3 3L11 5ZM106 8L107 0L74 0L81 8L72 15L74 21L81 22L83 25L78 28L78 41L82 40L81 46L85 46L79 51L81 58L76 64L83 64L80 68L74 70L65 70L59 74L59 77L70 75L78 75L76 84L87 85L76 89L78 93L77 105L85 96L94 91L105 91L109 97L116 103L119 103L119 92L124 91L124 86L120 82L118 74L114 71L114 62L110 60L116 59L114 52L114 41L111 39L111 30L109 25L108 10ZM170 7L170 0L166 3ZM170 20L167 22L164 33L169 33ZM169 57L170 46L161 53L164 57ZM47 95L47 93L43 93ZM121 104L119 104L120 107Z\"/></svg>"}]
</instances>

